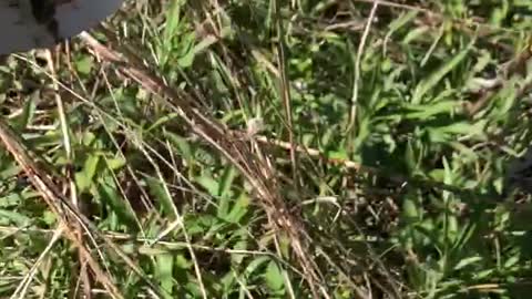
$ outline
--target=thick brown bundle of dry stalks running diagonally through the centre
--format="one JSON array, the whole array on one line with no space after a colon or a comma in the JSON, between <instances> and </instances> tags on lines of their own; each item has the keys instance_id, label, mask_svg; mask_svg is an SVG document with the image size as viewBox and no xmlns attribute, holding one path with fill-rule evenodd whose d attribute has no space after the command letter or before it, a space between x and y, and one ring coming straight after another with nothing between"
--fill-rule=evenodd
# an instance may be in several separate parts
<instances>
[{"instance_id":1,"label":"thick brown bundle of dry stalks running diagonally through the centre","mask_svg":"<svg viewBox=\"0 0 532 299\"><path fill-rule=\"evenodd\" d=\"M226 128L225 125L216 120L203 114L192 95L184 91L168 87L161 78L139 63L140 59L133 53L125 49L122 52L114 51L101 44L88 33L82 33L81 38L93 49L96 56L114 63L123 74L153 94L158 95L165 105L181 115L193 133L222 153L241 171L256 190L260 205L274 224L276 231L280 235L286 234L290 238L291 248L314 297L320 298L318 293L321 292L323 297L328 298L328 291L320 283L321 279L318 275L317 266L311 260L313 255L309 252L308 238L304 225L288 213L289 209L280 195L274 169L260 163L252 153L249 145L238 137L238 134ZM108 32L108 38L112 41L115 40L110 32Z\"/></svg>"}]
</instances>

